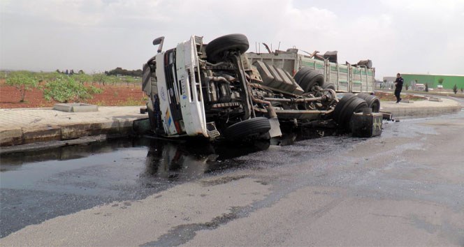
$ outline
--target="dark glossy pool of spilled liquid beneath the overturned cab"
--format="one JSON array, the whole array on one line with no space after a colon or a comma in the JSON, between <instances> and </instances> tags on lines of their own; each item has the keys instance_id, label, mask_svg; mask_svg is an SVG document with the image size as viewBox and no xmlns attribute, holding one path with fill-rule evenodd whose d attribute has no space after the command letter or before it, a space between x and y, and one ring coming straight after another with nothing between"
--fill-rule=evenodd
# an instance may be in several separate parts
<instances>
[{"instance_id":1,"label":"dark glossy pool of spilled liquid beneath the overturned cab","mask_svg":"<svg viewBox=\"0 0 464 247\"><path fill-rule=\"evenodd\" d=\"M320 137L288 135L280 142ZM152 138L108 140L1 156L0 237L44 220L115 201L140 200L186 181L254 168L269 142L212 145ZM256 165L256 169L259 169Z\"/></svg>"}]
</instances>

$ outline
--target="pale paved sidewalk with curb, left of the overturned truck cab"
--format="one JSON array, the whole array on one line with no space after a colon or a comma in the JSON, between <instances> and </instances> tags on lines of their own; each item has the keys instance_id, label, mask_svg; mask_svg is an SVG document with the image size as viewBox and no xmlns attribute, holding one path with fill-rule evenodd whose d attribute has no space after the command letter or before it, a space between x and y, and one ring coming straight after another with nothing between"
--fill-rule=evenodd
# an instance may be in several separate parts
<instances>
[{"instance_id":1,"label":"pale paved sidewalk with curb, left of the overturned truck cab","mask_svg":"<svg viewBox=\"0 0 464 247\"><path fill-rule=\"evenodd\" d=\"M147 118L140 107L101 107L100 112L51 108L0 109L0 147L74 140L93 135L128 135L133 121Z\"/></svg>"}]
</instances>

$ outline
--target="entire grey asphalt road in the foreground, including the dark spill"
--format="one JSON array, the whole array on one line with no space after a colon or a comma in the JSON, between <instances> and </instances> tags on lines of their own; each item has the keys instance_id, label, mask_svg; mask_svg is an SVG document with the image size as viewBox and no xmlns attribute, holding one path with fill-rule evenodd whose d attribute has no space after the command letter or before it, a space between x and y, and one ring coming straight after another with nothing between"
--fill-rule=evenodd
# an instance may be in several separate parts
<instances>
[{"instance_id":1,"label":"entire grey asphalt road in the foreground, including the dark spill","mask_svg":"<svg viewBox=\"0 0 464 247\"><path fill-rule=\"evenodd\" d=\"M2 157L0 245L464 246L463 140L461 112L250 154L151 141Z\"/></svg>"}]
</instances>

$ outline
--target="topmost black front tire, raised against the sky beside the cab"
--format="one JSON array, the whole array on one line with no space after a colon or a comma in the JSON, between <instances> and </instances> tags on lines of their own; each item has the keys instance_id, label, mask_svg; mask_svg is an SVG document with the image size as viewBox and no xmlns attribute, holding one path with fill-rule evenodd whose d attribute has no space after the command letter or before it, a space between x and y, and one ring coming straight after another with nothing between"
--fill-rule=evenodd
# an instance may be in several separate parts
<instances>
[{"instance_id":1,"label":"topmost black front tire, raised against the sky beside the cab","mask_svg":"<svg viewBox=\"0 0 464 247\"><path fill-rule=\"evenodd\" d=\"M233 33L212 40L206 45L205 52L208 61L216 63L223 60L224 52L238 50L240 54L243 54L248 50L248 47L247 36L240 33Z\"/></svg>"}]
</instances>

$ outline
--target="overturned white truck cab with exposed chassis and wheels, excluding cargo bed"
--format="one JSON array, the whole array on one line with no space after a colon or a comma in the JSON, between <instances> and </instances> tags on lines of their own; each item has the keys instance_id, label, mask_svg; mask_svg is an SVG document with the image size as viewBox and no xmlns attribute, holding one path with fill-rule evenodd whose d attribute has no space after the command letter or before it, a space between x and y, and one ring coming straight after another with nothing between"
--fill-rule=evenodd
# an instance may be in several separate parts
<instances>
[{"instance_id":1,"label":"overturned white truck cab with exposed chassis and wheels, excluding cargo bed","mask_svg":"<svg viewBox=\"0 0 464 247\"><path fill-rule=\"evenodd\" d=\"M292 75L265 61L251 63L245 35L208 44L191 36L166 51L163 43L164 37L153 41L158 53L143 65L143 91L156 135L253 141L294 128L356 130L366 137L382 131L382 114L375 113L378 98L345 93L339 99L314 68Z\"/></svg>"}]
</instances>

